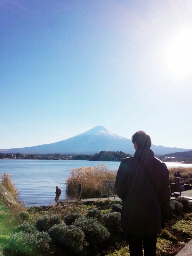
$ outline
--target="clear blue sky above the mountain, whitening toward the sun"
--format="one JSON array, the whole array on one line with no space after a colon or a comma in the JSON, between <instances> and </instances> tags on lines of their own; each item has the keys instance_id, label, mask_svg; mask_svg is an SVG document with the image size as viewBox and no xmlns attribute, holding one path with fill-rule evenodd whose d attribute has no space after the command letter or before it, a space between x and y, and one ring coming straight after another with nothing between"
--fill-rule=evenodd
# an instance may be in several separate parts
<instances>
[{"instance_id":1,"label":"clear blue sky above the mountain, whitening toward the sun","mask_svg":"<svg viewBox=\"0 0 192 256\"><path fill-rule=\"evenodd\" d=\"M0 0L0 148L96 125L192 148L191 13L191 0Z\"/></svg>"}]
</instances>

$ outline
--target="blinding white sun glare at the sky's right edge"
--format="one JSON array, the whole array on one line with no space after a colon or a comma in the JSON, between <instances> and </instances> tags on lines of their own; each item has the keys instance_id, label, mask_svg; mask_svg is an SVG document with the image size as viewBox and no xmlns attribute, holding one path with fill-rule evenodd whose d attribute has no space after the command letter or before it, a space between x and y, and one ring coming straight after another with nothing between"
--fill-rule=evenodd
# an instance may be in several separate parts
<instances>
[{"instance_id":1,"label":"blinding white sun glare at the sky's right edge","mask_svg":"<svg viewBox=\"0 0 192 256\"><path fill-rule=\"evenodd\" d=\"M182 30L168 45L167 66L175 75L192 73L192 30Z\"/></svg>"}]
</instances>

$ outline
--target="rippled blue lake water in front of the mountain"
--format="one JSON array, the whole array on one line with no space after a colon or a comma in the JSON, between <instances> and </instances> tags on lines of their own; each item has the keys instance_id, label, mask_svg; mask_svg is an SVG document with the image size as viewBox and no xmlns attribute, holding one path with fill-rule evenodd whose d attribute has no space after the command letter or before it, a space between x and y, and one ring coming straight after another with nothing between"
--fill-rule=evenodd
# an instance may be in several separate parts
<instances>
[{"instance_id":1,"label":"rippled blue lake water in front of the mountain","mask_svg":"<svg viewBox=\"0 0 192 256\"><path fill-rule=\"evenodd\" d=\"M114 170L120 162L105 162ZM99 165L99 161L75 160L19 160L0 159L0 173L12 175L15 187L19 189L20 198L26 206L54 204L55 187L62 190L60 199L66 198L65 181L69 171L81 166ZM166 163L168 167L192 167L192 164Z\"/></svg>"}]
</instances>

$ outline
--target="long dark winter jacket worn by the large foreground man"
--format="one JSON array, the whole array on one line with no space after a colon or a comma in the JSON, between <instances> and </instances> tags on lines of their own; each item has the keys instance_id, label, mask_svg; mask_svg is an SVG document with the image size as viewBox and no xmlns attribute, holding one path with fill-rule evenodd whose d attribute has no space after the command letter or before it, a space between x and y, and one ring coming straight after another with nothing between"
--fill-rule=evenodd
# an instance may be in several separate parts
<instances>
[{"instance_id":1,"label":"long dark winter jacket worn by the large foreground man","mask_svg":"<svg viewBox=\"0 0 192 256\"><path fill-rule=\"evenodd\" d=\"M151 181L138 162L138 157L147 167ZM115 188L124 202L121 228L136 235L160 233L169 212L169 171L151 149L137 149L134 157L121 161Z\"/></svg>"}]
</instances>

